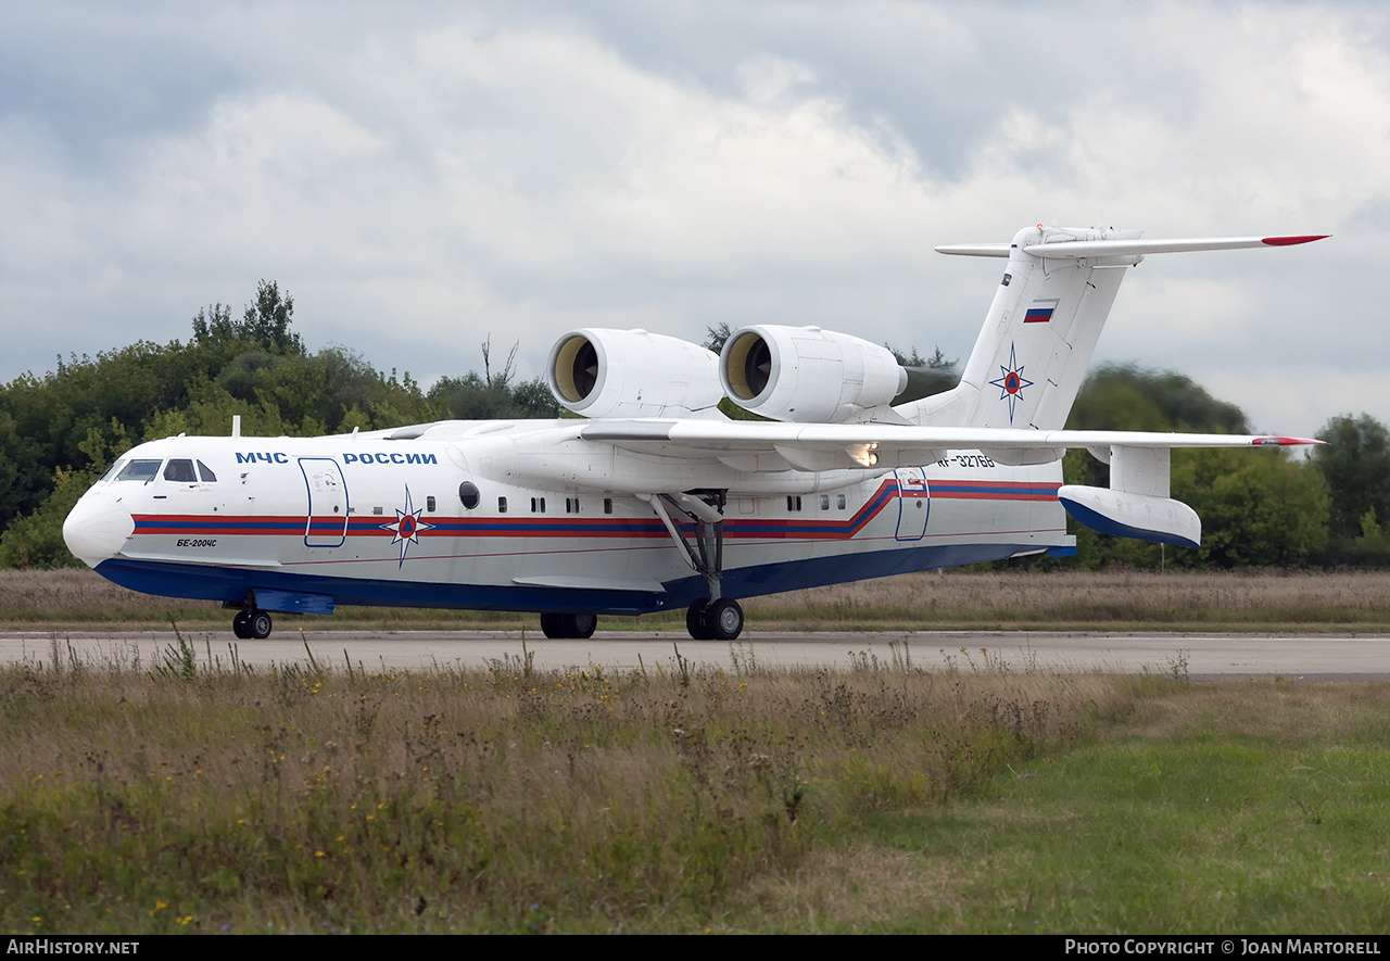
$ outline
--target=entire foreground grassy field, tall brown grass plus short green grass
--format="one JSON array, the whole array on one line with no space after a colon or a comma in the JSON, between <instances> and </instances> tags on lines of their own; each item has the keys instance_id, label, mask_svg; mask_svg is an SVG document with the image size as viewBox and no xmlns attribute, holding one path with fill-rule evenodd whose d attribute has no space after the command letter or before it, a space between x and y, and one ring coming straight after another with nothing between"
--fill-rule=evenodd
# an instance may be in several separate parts
<instances>
[{"instance_id":1,"label":"entire foreground grassy field, tall brown grass plus short green grass","mask_svg":"<svg viewBox=\"0 0 1390 961\"><path fill-rule=\"evenodd\" d=\"M1390 686L0 668L15 932L1383 932Z\"/></svg>"}]
</instances>

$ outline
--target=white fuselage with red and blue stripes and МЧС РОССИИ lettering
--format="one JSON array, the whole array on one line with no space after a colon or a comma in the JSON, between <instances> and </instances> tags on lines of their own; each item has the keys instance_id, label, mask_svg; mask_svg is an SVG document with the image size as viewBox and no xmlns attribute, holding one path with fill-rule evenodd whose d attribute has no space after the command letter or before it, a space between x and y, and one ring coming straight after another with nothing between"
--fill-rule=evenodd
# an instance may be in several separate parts
<instances>
[{"instance_id":1,"label":"white fuselage with red and blue stripes and \u041c\u0427\u0421 \u0420\u041e\u0421\u0421\u0418\u0418 lettering","mask_svg":"<svg viewBox=\"0 0 1390 961\"><path fill-rule=\"evenodd\" d=\"M271 611L338 604L638 615L706 580L651 503L717 487L723 591L795 588L1070 554L1056 463L974 451L924 467L671 467L578 438L584 421L456 423L389 439L174 437L82 498L70 547L125 587ZM592 446L592 449L589 449ZM681 471L676 471L677 474ZM681 533L695 516L673 513Z\"/></svg>"}]
</instances>

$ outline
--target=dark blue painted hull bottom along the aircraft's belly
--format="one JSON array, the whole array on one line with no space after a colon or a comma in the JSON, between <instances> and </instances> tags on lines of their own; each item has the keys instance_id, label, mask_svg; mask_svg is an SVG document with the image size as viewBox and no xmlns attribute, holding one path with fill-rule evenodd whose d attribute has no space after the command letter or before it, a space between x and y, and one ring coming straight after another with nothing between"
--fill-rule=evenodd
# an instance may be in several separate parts
<instances>
[{"instance_id":1,"label":"dark blue painted hull bottom along the aircraft's belly","mask_svg":"<svg viewBox=\"0 0 1390 961\"><path fill-rule=\"evenodd\" d=\"M723 594L731 598L780 594L917 570L999 560L1029 549L1036 548L1031 545L960 544L738 567L724 572ZM1074 552L1074 548L1048 549L1052 556L1069 556ZM309 611L314 613L327 613L338 604L352 604L467 611L587 611L609 615L639 615L684 609L709 592L705 579L695 574L667 581L664 584L666 592L655 594L648 591L359 580L292 574L282 570L126 559L103 560L96 570L107 580L143 594L239 604L247 591L257 591L257 601L267 611Z\"/></svg>"}]
</instances>

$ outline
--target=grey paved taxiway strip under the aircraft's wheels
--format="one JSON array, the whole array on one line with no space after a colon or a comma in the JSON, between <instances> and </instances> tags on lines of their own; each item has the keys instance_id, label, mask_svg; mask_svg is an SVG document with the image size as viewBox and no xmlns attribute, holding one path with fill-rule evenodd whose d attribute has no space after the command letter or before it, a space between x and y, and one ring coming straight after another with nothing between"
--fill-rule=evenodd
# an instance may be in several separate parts
<instances>
[{"instance_id":1,"label":"grey paved taxiway strip under the aircraft's wheels","mask_svg":"<svg viewBox=\"0 0 1390 961\"><path fill-rule=\"evenodd\" d=\"M229 663L231 631L192 631L199 662L208 656ZM1051 633L1051 631L880 631L773 633L752 631L734 644L692 641L684 631L600 631L584 641L550 641L527 631L525 647L538 668L602 665L610 670L674 666L676 651L695 665L733 668L849 668L877 658L891 663L892 644L906 641L912 663L945 668L947 656L963 669L969 656L983 663L980 648L1011 668L1049 670L1106 670L1170 673L1201 677L1273 677L1289 680L1387 680L1390 636L1386 634L1161 634L1161 633ZM0 631L0 662L64 659L71 645L79 661L93 666L149 666L174 643L172 631ZM236 641L238 656L249 665L306 663L309 655L328 666L393 670L431 666L481 668L521 654L521 631L297 631L279 630L264 641ZM965 648L962 654L960 648ZM901 648L899 648L901 649ZM641 661L639 661L641 659Z\"/></svg>"}]
</instances>

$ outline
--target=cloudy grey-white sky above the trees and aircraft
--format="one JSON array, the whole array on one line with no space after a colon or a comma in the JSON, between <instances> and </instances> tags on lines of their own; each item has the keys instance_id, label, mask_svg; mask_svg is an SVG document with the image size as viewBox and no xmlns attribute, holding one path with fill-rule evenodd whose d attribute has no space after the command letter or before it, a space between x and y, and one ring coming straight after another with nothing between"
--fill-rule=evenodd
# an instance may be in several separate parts
<instances>
[{"instance_id":1,"label":"cloudy grey-white sky above the trees and aircraft","mask_svg":"<svg viewBox=\"0 0 1390 961\"><path fill-rule=\"evenodd\" d=\"M581 325L963 359L998 261L933 248L1099 221L1333 234L1150 257L1098 357L1390 421L1390 8L0 3L0 381L261 278L424 382Z\"/></svg>"}]
</instances>

